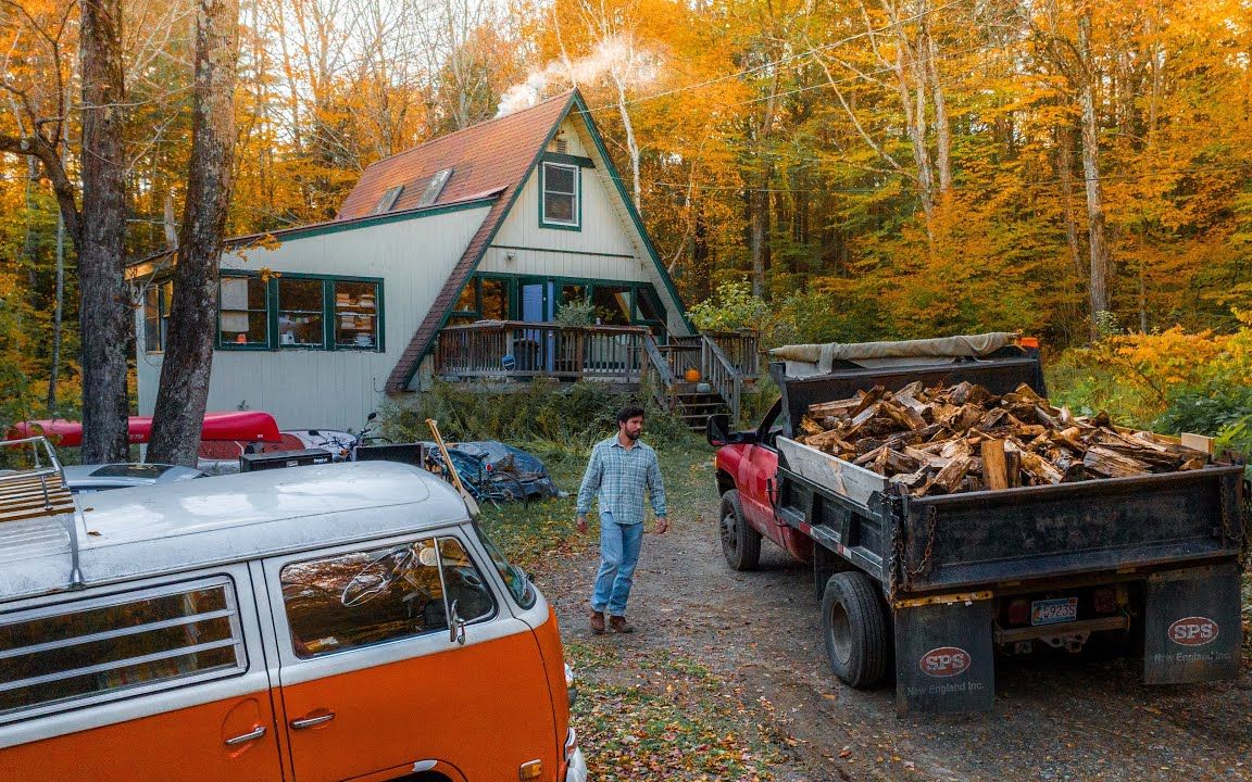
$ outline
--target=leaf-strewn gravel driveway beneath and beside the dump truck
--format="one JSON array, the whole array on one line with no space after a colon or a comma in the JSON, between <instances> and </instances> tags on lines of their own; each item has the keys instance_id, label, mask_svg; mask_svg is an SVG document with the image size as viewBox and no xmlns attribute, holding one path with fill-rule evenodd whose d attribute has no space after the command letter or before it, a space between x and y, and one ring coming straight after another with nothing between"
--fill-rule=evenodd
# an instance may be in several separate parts
<instances>
[{"instance_id":1,"label":"leaf-strewn gravel driveway beneath and beside the dump truck","mask_svg":"<svg viewBox=\"0 0 1252 782\"><path fill-rule=\"evenodd\" d=\"M855 691L830 673L808 568L766 542L756 572L731 571L715 519L710 489L669 534L645 536L634 636L587 628L593 534L543 568L541 587L567 641L623 659L682 654L727 697L759 704L754 718L785 758L770 769L777 779L1252 779L1247 654L1237 682L1152 688L1133 659L1000 664L993 712L900 719L893 688ZM612 671L585 674L593 687Z\"/></svg>"}]
</instances>

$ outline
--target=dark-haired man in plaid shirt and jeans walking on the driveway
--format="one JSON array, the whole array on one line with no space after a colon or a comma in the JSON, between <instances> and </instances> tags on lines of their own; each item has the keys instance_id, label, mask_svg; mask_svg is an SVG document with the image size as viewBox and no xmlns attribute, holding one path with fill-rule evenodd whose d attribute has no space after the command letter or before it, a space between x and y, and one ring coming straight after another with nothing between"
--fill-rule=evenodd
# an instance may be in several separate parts
<instances>
[{"instance_id":1,"label":"dark-haired man in plaid shirt and jeans walking on the driveway","mask_svg":"<svg viewBox=\"0 0 1252 782\"><path fill-rule=\"evenodd\" d=\"M626 623L626 598L644 542L645 489L652 495L656 534L670 527L661 465L656 452L639 442L642 432L642 408L618 410L617 434L591 449L591 462L578 488L578 532L587 531L591 499L600 497L600 572L591 593L591 632L597 636L605 632L605 611L615 632L635 632Z\"/></svg>"}]
</instances>

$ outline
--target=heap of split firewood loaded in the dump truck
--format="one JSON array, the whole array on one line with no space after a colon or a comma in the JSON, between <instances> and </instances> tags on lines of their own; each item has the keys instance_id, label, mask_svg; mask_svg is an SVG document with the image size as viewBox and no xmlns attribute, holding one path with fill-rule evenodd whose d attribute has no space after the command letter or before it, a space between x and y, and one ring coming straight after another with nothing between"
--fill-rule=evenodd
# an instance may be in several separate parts
<instances>
[{"instance_id":1,"label":"heap of split firewood loaded in the dump truck","mask_svg":"<svg viewBox=\"0 0 1252 782\"><path fill-rule=\"evenodd\" d=\"M997 397L960 383L809 405L796 439L880 475L913 497L1199 469L1202 450L1073 415L1022 384Z\"/></svg>"}]
</instances>

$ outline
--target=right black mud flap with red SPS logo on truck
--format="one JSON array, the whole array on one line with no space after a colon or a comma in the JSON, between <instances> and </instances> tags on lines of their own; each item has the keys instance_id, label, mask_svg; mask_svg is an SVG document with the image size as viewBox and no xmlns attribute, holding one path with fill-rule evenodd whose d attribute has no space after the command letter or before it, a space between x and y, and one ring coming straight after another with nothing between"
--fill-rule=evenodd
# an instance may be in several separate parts
<instances>
[{"instance_id":1,"label":"right black mud flap with red SPS logo on truck","mask_svg":"<svg viewBox=\"0 0 1252 782\"><path fill-rule=\"evenodd\" d=\"M1233 562L1148 577L1143 681L1187 684L1239 674L1239 573Z\"/></svg>"}]
</instances>

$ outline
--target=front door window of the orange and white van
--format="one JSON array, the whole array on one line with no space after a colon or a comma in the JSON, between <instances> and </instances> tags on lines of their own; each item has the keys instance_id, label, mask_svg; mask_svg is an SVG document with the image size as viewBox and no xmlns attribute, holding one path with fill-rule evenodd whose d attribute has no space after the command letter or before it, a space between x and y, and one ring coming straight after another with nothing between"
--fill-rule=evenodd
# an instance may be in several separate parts
<instances>
[{"instance_id":1,"label":"front door window of the orange and white van","mask_svg":"<svg viewBox=\"0 0 1252 782\"><path fill-rule=\"evenodd\" d=\"M447 631L451 601L466 621L495 611L454 538L297 562L283 567L280 581L302 658Z\"/></svg>"}]
</instances>

